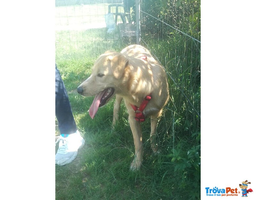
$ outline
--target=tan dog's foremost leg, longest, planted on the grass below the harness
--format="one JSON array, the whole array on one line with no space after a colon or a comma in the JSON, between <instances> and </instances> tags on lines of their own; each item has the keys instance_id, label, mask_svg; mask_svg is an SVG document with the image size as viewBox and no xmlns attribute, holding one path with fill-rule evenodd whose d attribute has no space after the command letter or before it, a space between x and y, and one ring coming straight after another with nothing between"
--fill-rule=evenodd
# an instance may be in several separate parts
<instances>
[{"instance_id":1,"label":"tan dog's foremost leg, longest, planted on the grass below the harness","mask_svg":"<svg viewBox=\"0 0 256 200\"><path fill-rule=\"evenodd\" d=\"M140 168L143 160L143 149L142 149L142 135L140 123L134 119L134 116L129 115L129 123L132 129L132 135L135 146L134 160L131 163L131 170L137 170Z\"/></svg>"}]
</instances>

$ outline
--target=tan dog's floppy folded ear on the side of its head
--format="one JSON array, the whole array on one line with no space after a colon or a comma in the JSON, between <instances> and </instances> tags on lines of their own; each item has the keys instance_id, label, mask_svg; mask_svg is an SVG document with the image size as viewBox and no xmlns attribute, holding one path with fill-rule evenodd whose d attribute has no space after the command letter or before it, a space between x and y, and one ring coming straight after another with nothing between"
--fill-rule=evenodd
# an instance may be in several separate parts
<instances>
[{"instance_id":1,"label":"tan dog's floppy folded ear on the side of its head","mask_svg":"<svg viewBox=\"0 0 256 200\"><path fill-rule=\"evenodd\" d=\"M120 79L124 74L124 69L129 65L129 61L123 55L111 57L111 71L116 79Z\"/></svg>"}]
</instances>

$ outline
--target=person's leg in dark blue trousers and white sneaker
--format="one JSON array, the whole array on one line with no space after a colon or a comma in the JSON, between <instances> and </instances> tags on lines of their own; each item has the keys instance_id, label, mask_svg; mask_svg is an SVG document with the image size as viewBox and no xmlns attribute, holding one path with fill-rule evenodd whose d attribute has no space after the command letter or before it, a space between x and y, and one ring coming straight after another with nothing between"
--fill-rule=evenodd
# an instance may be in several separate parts
<instances>
[{"instance_id":1,"label":"person's leg in dark blue trousers and white sneaker","mask_svg":"<svg viewBox=\"0 0 256 200\"><path fill-rule=\"evenodd\" d=\"M66 165L72 162L77 150L84 145L84 139L77 130L76 122L71 111L68 94L62 81L60 71L55 64L55 116L59 123L59 149L55 155L57 165Z\"/></svg>"}]
</instances>

